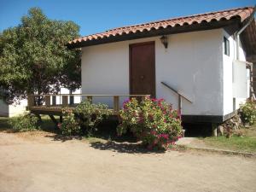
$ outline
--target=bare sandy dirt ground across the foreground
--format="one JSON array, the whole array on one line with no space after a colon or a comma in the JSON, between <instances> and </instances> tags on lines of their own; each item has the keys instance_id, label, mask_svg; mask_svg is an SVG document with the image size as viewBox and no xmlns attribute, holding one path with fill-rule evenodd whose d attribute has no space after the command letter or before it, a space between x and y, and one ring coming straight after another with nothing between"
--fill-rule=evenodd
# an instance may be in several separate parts
<instances>
[{"instance_id":1,"label":"bare sandy dirt ground across the foreground","mask_svg":"<svg viewBox=\"0 0 256 192\"><path fill-rule=\"evenodd\" d=\"M0 191L256 191L256 159L0 132Z\"/></svg>"}]
</instances>

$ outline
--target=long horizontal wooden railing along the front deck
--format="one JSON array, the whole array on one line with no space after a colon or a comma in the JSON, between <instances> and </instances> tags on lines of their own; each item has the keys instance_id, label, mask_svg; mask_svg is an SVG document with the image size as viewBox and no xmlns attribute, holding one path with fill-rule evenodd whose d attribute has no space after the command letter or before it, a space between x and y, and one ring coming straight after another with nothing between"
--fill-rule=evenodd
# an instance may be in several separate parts
<instances>
[{"instance_id":1,"label":"long horizontal wooden railing along the front deck","mask_svg":"<svg viewBox=\"0 0 256 192\"><path fill-rule=\"evenodd\" d=\"M53 102L51 102L51 100L55 97L59 97L59 104L53 104ZM28 99L27 99L27 107L32 108L32 107L45 107L45 108L52 108L52 107L73 107L76 104L79 104L79 102L73 102L72 104L68 102L68 98L70 96L73 97L79 97L79 102L84 101L85 98L87 98L87 100L93 102L93 98L95 97L113 97L113 110L114 111L119 111L119 101L120 101L120 97L137 97L137 98L141 98L142 100L146 97L146 96L150 96L150 95L84 95L84 94L60 94L60 95L29 95ZM40 97L40 100L42 101L41 104L38 104L36 101L36 97Z\"/></svg>"}]
</instances>

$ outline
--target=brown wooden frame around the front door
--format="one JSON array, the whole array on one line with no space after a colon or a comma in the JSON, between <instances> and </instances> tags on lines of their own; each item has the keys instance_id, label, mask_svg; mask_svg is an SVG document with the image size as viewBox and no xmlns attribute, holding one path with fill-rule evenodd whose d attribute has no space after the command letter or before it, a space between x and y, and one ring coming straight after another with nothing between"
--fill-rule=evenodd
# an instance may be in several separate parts
<instances>
[{"instance_id":1,"label":"brown wooden frame around the front door","mask_svg":"<svg viewBox=\"0 0 256 192\"><path fill-rule=\"evenodd\" d=\"M155 83L155 41L148 41L148 42L142 42L142 43L135 43L135 44L129 44L129 93L131 94L131 49L133 47L137 47L140 45L145 45L145 44L153 44L154 45L154 55L153 55L153 67L154 67L154 75L153 75L153 82L154 82L154 97L156 96L156 83Z\"/></svg>"}]
</instances>

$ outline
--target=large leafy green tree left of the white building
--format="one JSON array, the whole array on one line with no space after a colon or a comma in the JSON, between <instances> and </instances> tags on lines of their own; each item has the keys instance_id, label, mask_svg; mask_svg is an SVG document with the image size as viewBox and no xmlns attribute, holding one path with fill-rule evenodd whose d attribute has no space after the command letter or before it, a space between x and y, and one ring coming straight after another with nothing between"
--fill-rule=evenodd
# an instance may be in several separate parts
<instances>
[{"instance_id":1,"label":"large leafy green tree left of the white building","mask_svg":"<svg viewBox=\"0 0 256 192\"><path fill-rule=\"evenodd\" d=\"M0 33L0 89L9 103L28 94L56 93L61 86L79 88L80 49L67 49L79 37L73 21L49 20L32 8L19 26Z\"/></svg>"}]
</instances>

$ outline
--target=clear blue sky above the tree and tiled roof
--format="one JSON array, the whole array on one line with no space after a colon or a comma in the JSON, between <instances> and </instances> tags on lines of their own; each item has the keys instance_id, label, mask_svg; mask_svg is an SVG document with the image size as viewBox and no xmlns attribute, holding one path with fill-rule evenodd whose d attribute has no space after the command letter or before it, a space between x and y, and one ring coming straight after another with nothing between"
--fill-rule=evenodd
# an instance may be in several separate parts
<instances>
[{"instance_id":1,"label":"clear blue sky above the tree and tiled roof","mask_svg":"<svg viewBox=\"0 0 256 192\"><path fill-rule=\"evenodd\" d=\"M73 20L80 34L183 15L255 5L256 0L0 0L0 32L17 26L32 7L50 19Z\"/></svg>"}]
</instances>

